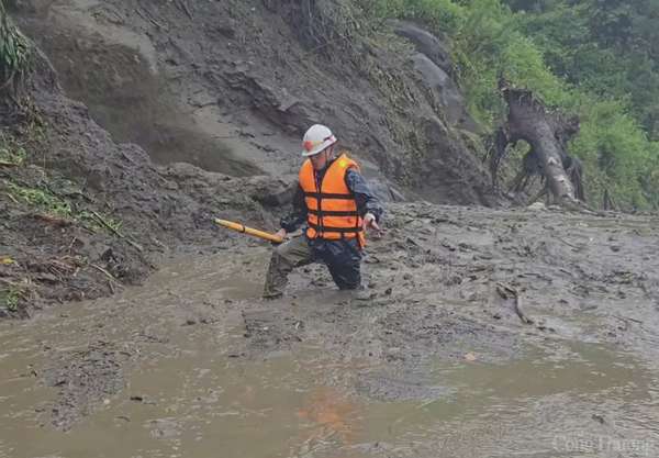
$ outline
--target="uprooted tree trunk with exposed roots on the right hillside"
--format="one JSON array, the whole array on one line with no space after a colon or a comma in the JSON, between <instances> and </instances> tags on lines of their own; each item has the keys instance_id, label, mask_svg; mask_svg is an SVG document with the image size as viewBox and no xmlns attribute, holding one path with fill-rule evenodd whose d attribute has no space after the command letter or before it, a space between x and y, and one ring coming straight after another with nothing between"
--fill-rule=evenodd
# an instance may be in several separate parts
<instances>
[{"instance_id":1,"label":"uprooted tree trunk with exposed roots on the right hillside","mask_svg":"<svg viewBox=\"0 0 659 458\"><path fill-rule=\"evenodd\" d=\"M488 152L490 171L494 187L498 172L509 145L525 141L530 150L524 156L522 170L513 180L511 191L524 192L529 179L540 176L545 188L535 199L550 192L557 203L577 204L585 201L582 182L582 166L579 159L567 153L567 144L579 132L579 118L565 118L549 111L534 98L532 91L512 88L503 79L500 89L507 103L505 124L493 136Z\"/></svg>"}]
</instances>

